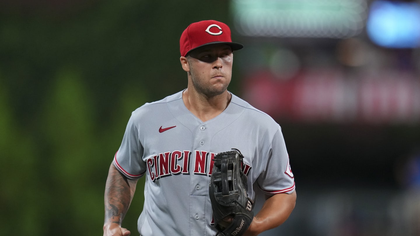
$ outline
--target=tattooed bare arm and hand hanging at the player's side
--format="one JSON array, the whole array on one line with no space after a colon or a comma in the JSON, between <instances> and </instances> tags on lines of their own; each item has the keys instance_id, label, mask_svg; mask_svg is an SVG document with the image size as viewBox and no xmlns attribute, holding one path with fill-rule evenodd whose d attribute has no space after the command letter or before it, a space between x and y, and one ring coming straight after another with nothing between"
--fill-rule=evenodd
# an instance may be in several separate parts
<instances>
[{"instance_id":1,"label":"tattooed bare arm and hand hanging at the player's side","mask_svg":"<svg viewBox=\"0 0 420 236\"><path fill-rule=\"evenodd\" d=\"M111 164L105 185L104 236L130 235L130 231L121 228L121 223L133 199L136 184L137 180L126 178Z\"/></svg>"}]
</instances>

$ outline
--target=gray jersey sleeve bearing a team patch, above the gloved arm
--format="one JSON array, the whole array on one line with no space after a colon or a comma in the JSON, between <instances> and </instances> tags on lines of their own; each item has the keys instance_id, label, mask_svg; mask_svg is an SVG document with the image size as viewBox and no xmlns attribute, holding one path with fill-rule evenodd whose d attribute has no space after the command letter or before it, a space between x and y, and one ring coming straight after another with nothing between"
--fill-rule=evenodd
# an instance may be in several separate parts
<instances>
[{"instance_id":1,"label":"gray jersey sleeve bearing a team patch, above the gloved arm","mask_svg":"<svg viewBox=\"0 0 420 236\"><path fill-rule=\"evenodd\" d=\"M289 155L280 126L264 158L265 170L257 178L260 189L268 195L287 193L295 189L294 175L291 172Z\"/></svg>"}]
</instances>

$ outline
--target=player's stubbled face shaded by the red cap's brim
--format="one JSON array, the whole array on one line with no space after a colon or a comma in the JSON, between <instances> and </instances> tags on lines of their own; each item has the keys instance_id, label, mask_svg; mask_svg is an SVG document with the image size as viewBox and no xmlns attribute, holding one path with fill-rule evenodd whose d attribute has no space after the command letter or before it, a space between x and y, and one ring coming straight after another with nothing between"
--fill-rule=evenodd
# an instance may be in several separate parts
<instances>
[{"instance_id":1,"label":"player's stubbled face shaded by the red cap's brim","mask_svg":"<svg viewBox=\"0 0 420 236\"><path fill-rule=\"evenodd\" d=\"M190 52L189 73L197 92L216 96L226 91L232 77L233 53L228 45L209 45Z\"/></svg>"}]
</instances>

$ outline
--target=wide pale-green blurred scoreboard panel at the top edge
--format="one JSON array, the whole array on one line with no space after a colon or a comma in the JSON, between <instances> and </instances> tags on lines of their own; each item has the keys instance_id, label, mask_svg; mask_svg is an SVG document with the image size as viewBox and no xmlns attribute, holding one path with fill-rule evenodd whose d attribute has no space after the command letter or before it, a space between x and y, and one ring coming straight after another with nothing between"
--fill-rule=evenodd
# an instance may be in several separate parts
<instances>
[{"instance_id":1,"label":"wide pale-green blurred scoreboard panel at the top edge","mask_svg":"<svg viewBox=\"0 0 420 236\"><path fill-rule=\"evenodd\" d=\"M250 37L346 38L359 34L365 0L233 0L240 34Z\"/></svg>"}]
</instances>

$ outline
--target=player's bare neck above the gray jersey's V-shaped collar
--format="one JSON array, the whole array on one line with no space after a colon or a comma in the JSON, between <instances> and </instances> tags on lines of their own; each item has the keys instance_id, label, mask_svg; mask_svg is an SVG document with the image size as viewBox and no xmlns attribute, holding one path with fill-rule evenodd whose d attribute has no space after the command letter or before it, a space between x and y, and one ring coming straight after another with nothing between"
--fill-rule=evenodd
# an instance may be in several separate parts
<instances>
[{"instance_id":1,"label":"player's bare neck above the gray jersey's V-shaped collar","mask_svg":"<svg viewBox=\"0 0 420 236\"><path fill-rule=\"evenodd\" d=\"M202 122L209 121L222 113L229 105L232 95L225 91L223 94L207 97L193 89L185 89L182 100L185 107Z\"/></svg>"}]
</instances>

